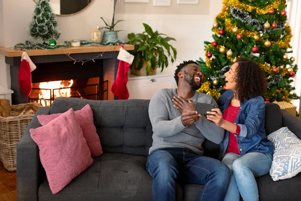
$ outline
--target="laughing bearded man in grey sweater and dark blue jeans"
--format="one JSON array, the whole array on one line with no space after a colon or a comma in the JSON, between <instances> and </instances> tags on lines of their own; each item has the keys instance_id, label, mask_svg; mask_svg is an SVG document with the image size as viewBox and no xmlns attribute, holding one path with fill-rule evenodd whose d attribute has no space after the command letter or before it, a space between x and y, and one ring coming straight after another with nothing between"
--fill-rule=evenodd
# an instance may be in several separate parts
<instances>
[{"instance_id":1,"label":"laughing bearded man in grey sweater and dark blue jeans","mask_svg":"<svg viewBox=\"0 0 301 201\"><path fill-rule=\"evenodd\" d=\"M202 143L206 138L220 144L224 130L193 111L196 102L217 104L212 96L195 91L202 82L202 72L195 61L178 65L175 79L177 89L162 89L149 103L154 134L146 168L154 178L153 198L175 200L176 180L179 180L204 185L198 200L223 200L230 178L229 168L219 160L202 156ZM190 99L189 102L184 98ZM173 101L182 103L182 107Z\"/></svg>"}]
</instances>

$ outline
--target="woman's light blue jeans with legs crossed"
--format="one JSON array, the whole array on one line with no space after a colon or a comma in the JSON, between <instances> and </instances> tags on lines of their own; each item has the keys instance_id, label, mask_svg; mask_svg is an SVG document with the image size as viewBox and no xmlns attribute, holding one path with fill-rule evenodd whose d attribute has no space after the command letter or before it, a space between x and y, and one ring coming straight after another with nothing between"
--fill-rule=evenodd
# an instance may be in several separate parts
<instances>
[{"instance_id":1,"label":"woman's light blue jeans with legs crossed","mask_svg":"<svg viewBox=\"0 0 301 201\"><path fill-rule=\"evenodd\" d=\"M251 152L243 156L227 153L222 162L232 173L225 201L239 201L239 193L244 201L259 200L255 178L269 172L272 157L260 152Z\"/></svg>"}]
</instances>

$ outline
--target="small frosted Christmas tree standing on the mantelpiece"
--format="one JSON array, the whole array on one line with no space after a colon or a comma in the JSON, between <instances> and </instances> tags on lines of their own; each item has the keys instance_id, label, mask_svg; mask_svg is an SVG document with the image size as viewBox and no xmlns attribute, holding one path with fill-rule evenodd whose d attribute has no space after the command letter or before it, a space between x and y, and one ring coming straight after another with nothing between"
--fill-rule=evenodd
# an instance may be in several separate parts
<instances>
[{"instance_id":1,"label":"small frosted Christmas tree standing on the mantelpiece","mask_svg":"<svg viewBox=\"0 0 301 201\"><path fill-rule=\"evenodd\" d=\"M39 0L37 3L29 26L29 34L43 42L51 39L57 40L60 37L61 33L57 30L57 21L55 14L51 11L49 0Z\"/></svg>"}]
</instances>

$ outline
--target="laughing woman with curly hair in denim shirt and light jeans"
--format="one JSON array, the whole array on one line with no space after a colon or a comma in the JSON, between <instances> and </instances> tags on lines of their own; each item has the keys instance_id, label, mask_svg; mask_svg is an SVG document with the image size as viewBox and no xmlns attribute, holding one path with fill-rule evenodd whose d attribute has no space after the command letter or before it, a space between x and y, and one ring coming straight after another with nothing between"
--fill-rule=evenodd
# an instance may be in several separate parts
<instances>
[{"instance_id":1,"label":"laughing woman with curly hair in denim shirt and light jeans","mask_svg":"<svg viewBox=\"0 0 301 201\"><path fill-rule=\"evenodd\" d=\"M245 201L259 200L255 177L269 172L273 153L264 130L265 74L256 62L239 58L225 79L220 108L207 112L208 120L225 129L220 158L232 172L225 200L239 200L239 193Z\"/></svg>"}]
</instances>

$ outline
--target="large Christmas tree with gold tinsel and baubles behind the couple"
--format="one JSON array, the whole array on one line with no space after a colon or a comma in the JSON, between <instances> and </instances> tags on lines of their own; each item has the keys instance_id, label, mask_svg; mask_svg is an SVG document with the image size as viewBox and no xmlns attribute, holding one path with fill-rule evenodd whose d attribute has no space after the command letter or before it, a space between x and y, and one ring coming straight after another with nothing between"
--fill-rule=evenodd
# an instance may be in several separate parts
<instances>
[{"instance_id":1,"label":"large Christmas tree with gold tinsel and baubles behind the couple","mask_svg":"<svg viewBox=\"0 0 301 201\"><path fill-rule=\"evenodd\" d=\"M259 63L266 72L266 102L297 99L290 85L297 65L289 42L291 28L286 22L284 0L223 0L215 18L213 42L205 42L205 58L198 61L204 82L199 91L218 98L225 85L224 73L239 56Z\"/></svg>"}]
</instances>

